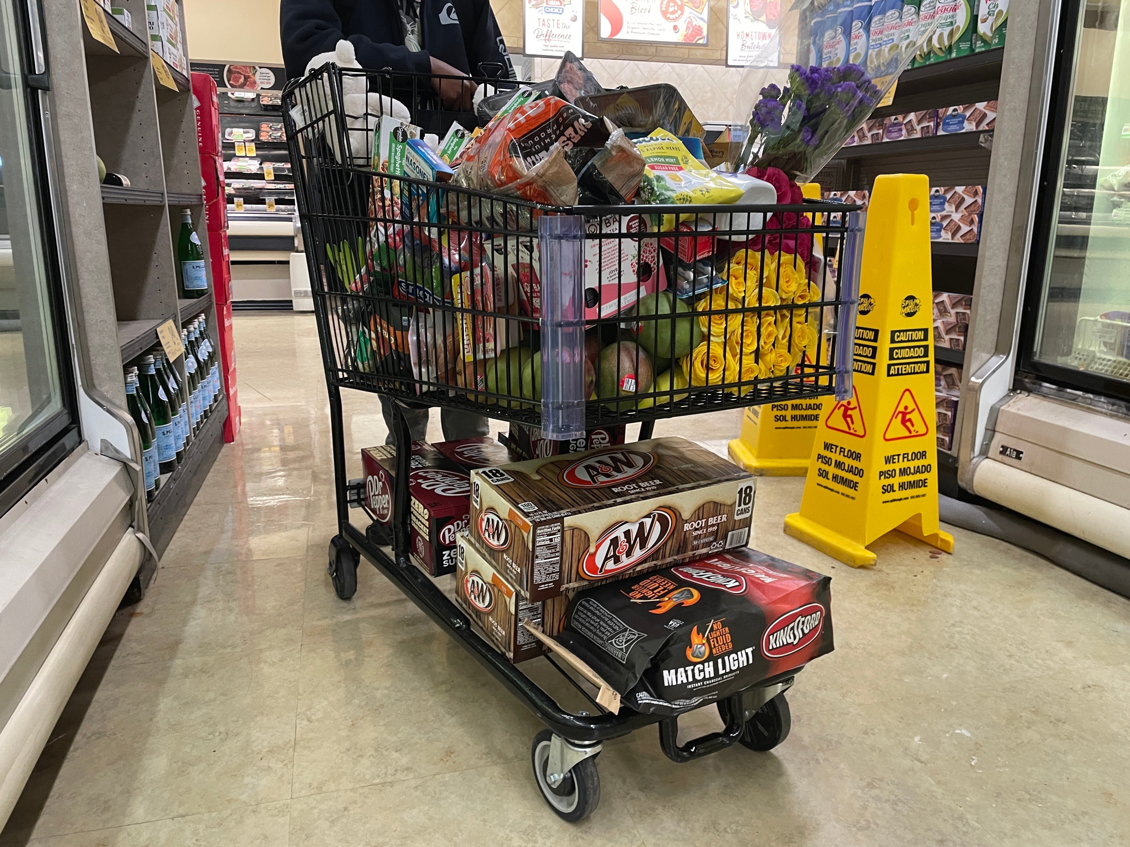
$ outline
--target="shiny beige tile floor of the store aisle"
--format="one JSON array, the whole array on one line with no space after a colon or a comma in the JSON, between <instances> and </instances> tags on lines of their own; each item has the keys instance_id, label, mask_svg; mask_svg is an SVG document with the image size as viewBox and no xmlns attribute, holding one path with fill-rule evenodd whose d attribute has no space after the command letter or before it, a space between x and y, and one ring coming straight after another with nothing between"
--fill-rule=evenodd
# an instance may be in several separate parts
<instances>
[{"instance_id":1,"label":"shiny beige tile floor of the store aisle","mask_svg":"<svg viewBox=\"0 0 1130 847\"><path fill-rule=\"evenodd\" d=\"M834 578L836 652L790 693L792 734L675 765L641 731L601 754L597 813L558 821L530 770L534 718L373 568L333 595L313 317L241 315L235 333L243 433L115 617L0 844L1130 842L1130 603L960 530L954 556L893 534L853 570L783 534L802 483L772 479L754 543ZM370 396L346 420L357 465L384 426ZM723 448L738 422L657 431Z\"/></svg>"}]
</instances>

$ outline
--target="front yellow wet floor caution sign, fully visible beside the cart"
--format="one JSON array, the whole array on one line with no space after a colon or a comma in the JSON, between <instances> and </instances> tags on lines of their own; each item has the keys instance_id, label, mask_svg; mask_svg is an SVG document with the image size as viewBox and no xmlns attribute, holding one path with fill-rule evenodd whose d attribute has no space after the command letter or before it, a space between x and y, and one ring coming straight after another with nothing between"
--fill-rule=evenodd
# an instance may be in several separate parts
<instances>
[{"instance_id":1,"label":"front yellow wet floor caution sign, fully visible beside the cart","mask_svg":"<svg viewBox=\"0 0 1130 847\"><path fill-rule=\"evenodd\" d=\"M938 527L928 193L925 176L875 180L852 396L825 403L800 512L784 519L786 533L853 567L873 565L867 545L892 530L954 551Z\"/></svg>"}]
</instances>

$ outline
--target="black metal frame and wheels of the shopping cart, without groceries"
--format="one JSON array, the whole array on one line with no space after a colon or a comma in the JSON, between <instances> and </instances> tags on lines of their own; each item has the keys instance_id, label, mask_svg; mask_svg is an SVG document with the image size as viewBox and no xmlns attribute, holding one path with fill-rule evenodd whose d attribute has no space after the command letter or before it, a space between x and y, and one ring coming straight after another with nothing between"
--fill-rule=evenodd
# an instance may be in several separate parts
<instances>
[{"instance_id":1,"label":"black metal frame and wheels of the shopping cart, without groceries","mask_svg":"<svg viewBox=\"0 0 1130 847\"><path fill-rule=\"evenodd\" d=\"M334 71L337 71L337 69L330 69L329 73L332 76ZM340 71L337 72L340 73ZM322 73L327 73L327 71L322 71ZM293 102L294 90L301 81L302 80L295 80L287 86L287 89L284 93L285 103ZM497 80L481 81L497 82ZM337 88L331 86L331 94L337 101L337 108L340 111L340 102L338 101L338 98L340 98L340 85L338 85ZM292 146L292 157L295 160L294 180L301 224L303 227L304 241L307 245L307 251L310 251L311 245L319 243L319 239L315 238L311 232L311 221L316 219L319 215L316 211L312 212L305 208L307 204L307 185L305 183L306 175L297 165L299 154L296 149L297 142L294 140L294 115L289 108L285 108L284 114L287 124L287 137ZM341 133L338 141L339 149L347 149L345 130L342 129L339 131ZM344 169L348 171L350 168L346 167ZM364 168L359 168L357 171L365 176L375 175L373 172L365 171ZM405 183L427 185L426 183L418 183L411 180L405 180ZM466 193L488 199L492 197L481 192L469 191ZM507 198L506 201L512 202L513 199ZM704 207L703 209L706 212L723 210L722 207ZM686 215L686 207L645 207L642 209L644 213L653 211L657 213L673 212L681 215ZM607 213L609 208L581 207L570 209L547 209L545 211L558 215L600 216L602 213ZM637 209L633 208L633 211L637 211ZM843 204L833 206L829 203L814 203L806 204L803 207L750 206L744 207L744 211L791 211L793 213L809 213L814 216L840 213L844 216L844 222L846 222L847 216L851 215L851 229L857 233L859 237L852 242L854 243L853 247L849 244L850 239L841 239L838 246L859 251L862 242L862 226L855 216L859 211L859 207ZM844 229L846 230L846 228L847 227L845 226ZM319 267L318 259L313 252L307 252L307 256L311 265L311 279L314 281L316 288L318 280L324 278L319 273L319 271L323 269ZM849 254L843 260L844 267L849 267L853 271L846 274L852 279L852 282L858 281L858 253L855 255ZM843 288L838 288L838 298L831 303L831 305L837 307L837 314L843 318L837 324L838 343L841 346L844 343L844 339L851 339L854 335L854 306L857 294L858 288L853 288L852 285L845 285ZM329 294L323 294L324 299L328 299L329 297ZM484 314L481 311L476 309L463 311L471 315ZM574 784L580 785L582 776L586 772L588 776L584 777L585 779L590 781L597 779L596 769L591 767L591 759L600 752L602 742L620 737L644 726L652 724L659 725L661 748L664 754L676 762L690 761L725 749L734 743L742 743L754 749L770 749L770 746L779 743L780 740L788 734L788 705L784 702L784 698L781 697L781 695L792 686L796 674L802 669L794 669L785 674L781 674L780 676L764 680L754 687L737 692L725 700L718 701L719 711L725 724L724 730L703 735L684 744L679 744L677 716L666 717L655 714L642 714L629 708L621 708L618 714L611 714L597 705L594 699L596 689L586 688L585 681L573 672L568 665L555 661L550 654L547 654L549 663L557 669L565 680L567 680L568 683L576 691L579 691L589 704L591 704L592 711L571 711L563 708L550 695L527 676L520 665L511 663L502 653L499 653L481 635L479 635L471 619L458 605L449 600L433 578L415 566L409 558L410 505L408 479L410 473L409 447L411 444L411 434L403 414L405 407L402 405L402 402L407 399L403 395L394 396L394 402L391 404L393 419L392 436L393 444L395 445L395 486L393 490L391 539L374 538L374 535L370 532L363 531L354 525L350 521L350 507L362 506L364 498L364 481L350 481L348 478L345 454L345 421L342 416L341 390L351 387L363 391L374 391L374 393L375 390L364 383L350 379L348 376L344 378L342 370L338 367L334 350L332 349L330 342L332 331L330 326L331 316L328 314L328 308L324 302L316 295L315 320L318 322L319 340L322 349L322 361L325 374L327 390L329 393L330 429L333 453L333 479L338 535L330 541L328 570L331 578L333 578L334 587L338 591L339 596L351 596L353 591L356 588L356 568L359 564L359 559L364 558L383 576L392 582L393 585L408 596L408 599L411 600L437 626L440 626L441 629L443 629L460 646L462 646L463 649L466 649L492 676L501 682L513 696L515 696L528 709L530 709L530 711L547 727L548 732L551 734L549 739L544 739L542 736L545 734L542 733L534 740L533 759L534 769L539 779L539 787L546 796L547 802L550 803L550 806L554 807L554 811L559 817L565 818L566 820L579 820L590 813L596 806L596 801L593 801L589 807L582 810L583 813L581 814L573 814L571 817L570 814L563 813L562 809L556 806L551 800L551 792L560 784L560 780L570 775L573 775L575 780ZM768 394L760 393L746 396L739 395L734 402L729 403L728 405L731 408L748 407L764 402L815 398L833 393L840 395L845 391L850 393L851 360L852 357L850 349L846 352L841 349L840 356L836 357L836 365L840 367L837 373L843 378L837 378L835 385L831 384L831 382L826 382L824 385L817 385L817 379L812 378L809 381L812 385L811 390L802 390L798 393L796 390L797 382L792 381L790 383L789 381L785 381L785 383L782 384L782 391L780 392L771 390ZM772 385L772 381L770 381L770 385ZM442 395L429 395L427 400L429 404L434 405L451 407L463 410L467 410L468 408L466 398L452 396L450 399L445 399ZM673 404L671 405L673 407ZM599 409L599 405L596 403L593 403L593 407ZM716 408L719 408L716 404L704 409L695 409L684 405L678 409L669 408L664 410L657 402L655 405L647 410L633 409L631 412L621 413L615 417L617 417L619 422L640 422L641 438L646 438L650 437L653 422L658 419L672 417L672 413L693 414L697 411L710 411ZM481 411L494 418L512 420L520 424L531 422L529 410L523 412L522 410L513 408L513 405L486 405L481 407ZM588 417L588 421L596 425L612 422L608 419L607 410L598 414L596 419L593 419L593 416L590 414ZM375 524L373 526L375 526ZM385 541L390 543L381 543ZM351 587L349 586L350 577ZM345 591L342 591L342 583L345 584ZM771 739L768 746L757 746L756 743L753 743L749 737L750 723L757 718L758 715L762 715L766 708L774 706L774 704L776 704L775 708L777 711L773 714L777 715L779 721L779 725L776 725L775 728L776 739ZM783 709L784 715L783 726L780 725L781 709ZM545 774L548 779L549 791L547 791L547 786L542 784L542 774L538 772L539 741L542 744L545 744L546 741L549 743L549 758L548 763L546 765ZM584 770L584 762L586 761L589 761L588 767L590 768L588 771ZM559 772L550 772L554 768L556 768ZM597 785L599 786L599 783L597 783ZM597 788L596 797L599 801L599 787Z\"/></svg>"}]
</instances>

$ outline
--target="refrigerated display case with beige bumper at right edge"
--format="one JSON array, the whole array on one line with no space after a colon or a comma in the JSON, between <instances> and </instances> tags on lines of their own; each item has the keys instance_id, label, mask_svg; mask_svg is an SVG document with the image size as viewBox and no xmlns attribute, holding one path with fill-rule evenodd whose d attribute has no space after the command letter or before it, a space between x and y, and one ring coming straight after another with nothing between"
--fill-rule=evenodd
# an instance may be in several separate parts
<instances>
[{"instance_id":1,"label":"refrigerated display case with beige bumper at right edge","mask_svg":"<svg viewBox=\"0 0 1130 847\"><path fill-rule=\"evenodd\" d=\"M1006 51L959 481L1130 557L1130 0L1014 5Z\"/></svg>"}]
</instances>

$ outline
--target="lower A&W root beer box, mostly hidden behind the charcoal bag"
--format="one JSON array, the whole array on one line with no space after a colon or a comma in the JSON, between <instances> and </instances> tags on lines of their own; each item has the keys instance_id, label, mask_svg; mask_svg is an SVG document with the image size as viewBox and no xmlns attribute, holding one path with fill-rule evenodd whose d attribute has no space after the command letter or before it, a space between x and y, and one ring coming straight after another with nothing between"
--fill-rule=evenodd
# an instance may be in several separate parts
<instances>
[{"instance_id":1,"label":"lower A&W root beer box, mostly hidden behind the charcoal bag","mask_svg":"<svg viewBox=\"0 0 1130 847\"><path fill-rule=\"evenodd\" d=\"M470 536L462 532L455 540L455 599L479 626L487 639L511 662L540 656L541 641L522 626L537 623L553 637L560 631L568 596L524 600L480 553Z\"/></svg>"}]
</instances>

